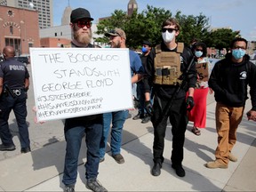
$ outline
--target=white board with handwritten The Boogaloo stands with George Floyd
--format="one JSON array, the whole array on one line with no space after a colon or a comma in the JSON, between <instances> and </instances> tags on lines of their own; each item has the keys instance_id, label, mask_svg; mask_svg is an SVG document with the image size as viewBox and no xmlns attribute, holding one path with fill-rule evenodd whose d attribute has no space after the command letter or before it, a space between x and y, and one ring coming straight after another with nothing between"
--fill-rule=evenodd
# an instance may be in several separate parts
<instances>
[{"instance_id":1,"label":"white board with handwritten The Boogaloo stands with George Floyd","mask_svg":"<svg viewBox=\"0 0 256 192\"><path fill-rule=\"evenodd\" d=\"M133 108L128 49L30 48L38 121Z\"/></svg>"}]
</instances>

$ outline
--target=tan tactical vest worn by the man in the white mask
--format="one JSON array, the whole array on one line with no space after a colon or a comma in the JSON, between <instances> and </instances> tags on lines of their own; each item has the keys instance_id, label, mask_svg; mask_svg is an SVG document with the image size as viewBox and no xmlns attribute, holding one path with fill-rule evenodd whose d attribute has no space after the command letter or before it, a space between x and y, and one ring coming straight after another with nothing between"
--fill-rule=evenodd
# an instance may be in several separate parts
<instances>
[{"instance_id":1,"label":"tan tactical vest worn by the man in the white mask","mask_svg":"<svg viewBox=\"0 0 256 192\"><path fill-rule=\"evenodd\" d=\"M154 84L180 84L180 53L184 44L178 43L176 52L162 52L161 44L156 45Z\"/></svg>"}]
</instances>

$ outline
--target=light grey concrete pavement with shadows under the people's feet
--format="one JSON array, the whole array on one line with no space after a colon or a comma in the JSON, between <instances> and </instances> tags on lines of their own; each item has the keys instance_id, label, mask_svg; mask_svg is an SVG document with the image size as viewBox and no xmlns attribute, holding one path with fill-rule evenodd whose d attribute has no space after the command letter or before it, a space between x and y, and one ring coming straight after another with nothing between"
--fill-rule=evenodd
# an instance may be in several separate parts
<instances>
[{"instance_id":1,"label":"light grey concrete pavement with shadows under the people's feet","mask_svg":"<svg viewBox=\"0 0 256 192\"><path fill-rule=\"evenodd\" d=\"M28 65L31 75L31 68ZM42 76L44 77L44 76ZM61 182L65 155L63 122L49 121L44 124L34 122L32 111L35 105L33 82L28 91L28 124L32 151L20 154L18 128L13 114L10 116L10 129L16 145L15 151L0 151L0 191L62 191ZM124 124L122 155L124 164L116 164L109 152L100 163L98 179L108 191L256 191L256 127L255 122L247 121L244 115L237 130L237 142L232 153L238 157L230 162L228 169L208 169L204 166L214 159L217 146L215 131L215 101L209 94L207 101L206 128L201 135L190 132L193 124L188 124L184 147L184 178L178 177L171 166L172 132L167 127L164 147L164 164L158 177L150 174L153 165L152 124L141 124L140 120L129 118ZM250 100L245 112L251 108ZM130 114L135 116L136 110ZM86 147L81 148L76 191L90 191L85 188L84 162Z\"/></svg>"}]
</instances>

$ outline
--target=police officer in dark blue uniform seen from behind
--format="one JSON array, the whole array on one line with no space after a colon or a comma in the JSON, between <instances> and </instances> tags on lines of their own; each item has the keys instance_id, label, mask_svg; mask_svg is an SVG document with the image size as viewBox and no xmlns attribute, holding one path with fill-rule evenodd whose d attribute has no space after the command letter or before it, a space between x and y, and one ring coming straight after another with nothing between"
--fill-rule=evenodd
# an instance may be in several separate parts
<instances>
[{"instance_id":1,"label":"police officer in dark blue uniform seen from behind","mask_svg":"<svg viewBox=\"0 0 256 192\"><path fill-rule=\"evenodd\" d=\"M20 61L14 60L15 51L12 46L5 46L4 61L0 66L0 138L1 151L15 150L8 119L13 110L20 133L20 152L30 151L28 124L26 123L27 91L29 86L28 69Z\"/></svg>"}]
</instances>

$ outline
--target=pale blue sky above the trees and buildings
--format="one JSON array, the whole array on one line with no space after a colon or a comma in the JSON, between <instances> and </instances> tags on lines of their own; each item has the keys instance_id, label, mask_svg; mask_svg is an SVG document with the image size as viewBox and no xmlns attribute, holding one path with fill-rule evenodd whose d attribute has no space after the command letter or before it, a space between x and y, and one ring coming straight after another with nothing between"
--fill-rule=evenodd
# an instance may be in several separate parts
<instances>
[{"instance_id":1,"label":"pale blue sky above the trees and buildings","mask_svg":"<svg viewBox=\"0 0 256 192\"><path fill-rule=\"evenodd\" d=\"M147 9L147 4L170 10L172 15L180 11L185 15L200 13L209 18L212 28L229 27L240 30L240 34L250 41L256 41L256 0L136 0L139 12ZM110 16L115 10L127 11L129 0L69 0L72 9L84 7L91 12L94 22ZM53 24L59 26L61 17L68 6L68 0L53 0Z\"/></svg>"}]
</instances>

